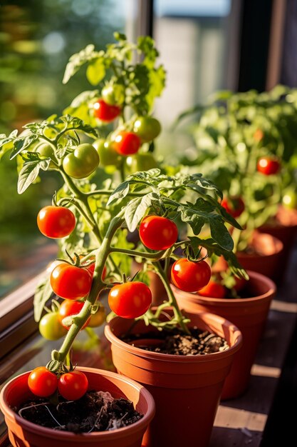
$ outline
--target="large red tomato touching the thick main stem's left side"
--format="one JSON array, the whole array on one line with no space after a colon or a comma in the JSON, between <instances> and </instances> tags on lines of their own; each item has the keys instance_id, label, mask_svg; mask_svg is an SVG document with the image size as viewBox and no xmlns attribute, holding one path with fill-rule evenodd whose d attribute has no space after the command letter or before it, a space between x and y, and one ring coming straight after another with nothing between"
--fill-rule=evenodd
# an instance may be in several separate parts
<instances>
[{"instance_id":1,"label":"large red tomato touching the thick main stem's left side","mask_svg":"<svg viewBox=\"0 0 297 447\"><path fill-rule=\"evenodd\" d=\"M51 288L61 298L76 300L87 296L92 275L86 268L61 263L51 272Z\"/></svg>"}]
</instances>

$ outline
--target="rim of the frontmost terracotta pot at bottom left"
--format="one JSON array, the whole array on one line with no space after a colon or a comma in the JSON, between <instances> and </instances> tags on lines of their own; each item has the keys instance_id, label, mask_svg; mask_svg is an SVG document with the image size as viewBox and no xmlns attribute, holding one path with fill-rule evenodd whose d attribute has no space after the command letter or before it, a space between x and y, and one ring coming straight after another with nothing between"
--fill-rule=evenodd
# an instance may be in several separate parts
<instances>
[{"instance_id":1,"label":"rim of the frontmost terracotta pot at bottom left","mask_svg":"<svg viewBox=\"0 0 297 447\"><path fill-rule=\"evenodd\" d=\"M21 427L24 427L27 431L30 431L31 433L40 434L41 436L48 437L51 439L59 438L65 441L88 441L88 438L100 438L102 441L105 441L106 438L113 437L121 438L123 435L123 432L131 431L135 432L138 430L141 430L142 426L145 429L145 427L148 426L150 421L152 421L152 418L155 415L155 401L152 397L152 394L150 391L145 388L145 386L140 385L140 383L137 383L136 381L132 380L132 378L128 378L126 376L121 376L118 373L113 373L111 371L105 371L102 369L97 368L88 368L88 367L78 367L79 371L83 371L85 373L97 373L105 377L110 378L117 378L120 382L129 383L130 386L137 389L142 393L142 396L145 397L145 400L147 401L147 413L143 415L143 417L135 422L130 424L130 426L122 427L122 428L116 428L113 431L97 431L92 433L73 433L72 431L56 431L53 430L53 428L47 428L43 426L39 426L36 423L27 421L26 419L19 416L18 413L12 410L12 408L9 406L9 404L6 401L6 393L8 391L9 386L11 386L11 383L14 383L16 379L22 377L22 376L28 376L28 374L31 371L26 371L25 373L19 374L18 376L11 378L9 382L7 382L4 387L1 389L0 393L0 407L2 408L2 411L4 412L5 418L9 418L12 421L15 421L16 424L18 424ZM98 440L99 441L99 440Z\"/></svg>"}]
</instances>

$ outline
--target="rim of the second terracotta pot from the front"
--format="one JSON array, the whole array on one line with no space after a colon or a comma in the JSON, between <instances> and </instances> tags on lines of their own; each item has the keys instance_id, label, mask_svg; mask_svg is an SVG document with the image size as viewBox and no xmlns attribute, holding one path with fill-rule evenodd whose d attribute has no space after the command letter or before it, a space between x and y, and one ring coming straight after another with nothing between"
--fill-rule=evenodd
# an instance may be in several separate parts
<instances>
[{"instance_id":1,"label":"rim of the second terracotta pot from the front","mask_svg":"<svg viewBox=\"0 0 297 447\"><path fill-rule=\"evenodd\" d=\"M192 313L192 312L185 312ZM239 348L242 345L242 334L241 331L237 326L235 326L231 321L226 320L226 318L222 318L221 316L215 315L214 313L210 312L195 312L195 314L199 314L204 319L208 319L212 322L217 321L218 323L221 323L222 326L227 326L233 331L235 342L232 346L229 346L226 351L219 351L214 353L208 353L204 356L199 355L189 355L189 356L178 356L176 354L165 354L160 352L153 352L153 351L145 351L142 348L137 348L137 346L132 346L129 343L126 343L125 341L118 338L118 336L115 335L113 332L113 326L118 321L122 320L123 318L120 318L119 316L116 316L113 318L106 326L105 326L105 336L108 338L110 343L114 344L115 346L118 346L118 348L125 348L126 351L129 351L130 353L133 353L136 356L145 358L150 358L152 360L159 360L159 361L165 361L165 362L174 362L174 363L207 363L211 361L217 361L217 359L233 356L236 351L239 350Z\"/></svg>"}]
</instances>

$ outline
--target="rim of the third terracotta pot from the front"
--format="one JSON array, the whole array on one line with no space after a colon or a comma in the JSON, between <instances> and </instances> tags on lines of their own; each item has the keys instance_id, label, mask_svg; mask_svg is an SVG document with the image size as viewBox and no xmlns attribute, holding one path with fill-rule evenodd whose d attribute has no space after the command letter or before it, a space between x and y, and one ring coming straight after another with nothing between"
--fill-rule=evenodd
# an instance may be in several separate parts
<instances>
[{"instance_id":1,"label":"rim of the third terracotta pot from the front","mask_svg":"<svg viewBox=\"0 0 297 447\"><path fill-rule=\"evenodd\" d=\"M271 299L271 296L276 294L276 283L272 281L271 278L268 276L262 275L262 273L258 273L256 271L247 270L246 271L250 278L256 279L258 281L261 281L261 283L265 283L269 290L266 293L262 293L258 296L251 296L250 298L213 298L212 296L202 296L198 293L191 293L191 292L184 292L174 286L174 284L170 284L172 290L174 293L179 293L179 295L182 295L183 293L188 297L192 298L193 300L197 301L204 301L205 303L216 303L216 304L229 304L229 306L235 306L235 305L242 305L244 306L244 303L252 303L254 301L259 300L265 300L265 299Z\"/></svg>"}]
</instances>

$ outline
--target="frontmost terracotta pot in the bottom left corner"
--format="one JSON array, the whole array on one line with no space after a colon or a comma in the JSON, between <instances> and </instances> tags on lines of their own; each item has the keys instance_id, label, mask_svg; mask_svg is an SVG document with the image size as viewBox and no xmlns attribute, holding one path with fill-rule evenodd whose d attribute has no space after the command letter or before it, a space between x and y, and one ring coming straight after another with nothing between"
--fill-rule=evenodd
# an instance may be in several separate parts
<instances>
[{"instance_id":1,"label":"frontmost terracotta pot in the bottom left corner","mask_svg":"<svg viewBox=\"0 0 297 447\"><path fill-rule=\"evenodd\" d=\"M28 389L28 373L11 379L1 391L0 406L9 428L9 439L14 447L140 447L147 425L155 414L154 400L139 383L100 369L79 368L88 376L89 389L109 391L115 397L132 401L144 416L140 421L115 431L75 434L38 426L26 421L11 408L18 407L33 394Z\"/></svg>"}]
</instances>

